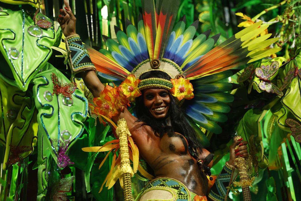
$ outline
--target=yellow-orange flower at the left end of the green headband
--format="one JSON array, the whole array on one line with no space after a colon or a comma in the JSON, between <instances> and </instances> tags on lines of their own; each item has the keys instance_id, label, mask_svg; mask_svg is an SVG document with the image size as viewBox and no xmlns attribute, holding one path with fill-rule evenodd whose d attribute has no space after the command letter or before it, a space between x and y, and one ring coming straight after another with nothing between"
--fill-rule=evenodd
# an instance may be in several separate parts
<instances>
[{"instance_id":1,"label":"yellow-orange flower at the left end of the green headband","mask_svg":"<svg viewBox=\"0 0 301 201\"><path fill-rule=\"evenodd\" d=\"M135 75L129 74L126 80L119 85L121 91L130 102L134 102L135 98L141 95L141 92L138 89L139 83L140 80L136 79Z\"/></svg>"}]
</instances>

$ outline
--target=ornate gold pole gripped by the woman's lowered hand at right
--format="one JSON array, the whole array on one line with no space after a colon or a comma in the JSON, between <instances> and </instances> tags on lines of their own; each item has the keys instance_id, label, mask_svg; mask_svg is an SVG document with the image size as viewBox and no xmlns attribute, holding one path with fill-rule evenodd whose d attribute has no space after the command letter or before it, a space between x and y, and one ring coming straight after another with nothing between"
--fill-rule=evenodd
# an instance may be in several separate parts
<instances>
[{"instance_id":1,"label":"ornate gold pole gripped by the woman's lowered hand at right","mask_svg":"<svg viewBox=\"0 0 301 201\"><path fill-rule=\"evenodd\" d=\"M234 141L239 140L240 138L241 138L240 136L235 136ZM238 149L238 147L239 145L237 145L235 149ZM247 170L247 162L245 158L237 157L235 159L235 166L239 171L240 181L234 181L233 184L234 186L240 186L241 189L243 190L244 201L252 201L251 194L250 194L250 186L252 186L255 177L252 177L250 179L250 175L248 174L248 170Z\"/></svg>"}]
</instances>

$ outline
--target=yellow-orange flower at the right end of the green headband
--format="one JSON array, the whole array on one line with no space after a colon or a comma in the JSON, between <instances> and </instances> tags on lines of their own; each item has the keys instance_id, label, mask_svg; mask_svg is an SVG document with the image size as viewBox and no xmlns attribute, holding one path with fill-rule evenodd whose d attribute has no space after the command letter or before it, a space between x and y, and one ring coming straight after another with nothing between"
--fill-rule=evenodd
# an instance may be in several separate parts
<instances>
[{"instance_id":1,"label":"yellow-orange flower at the right end of the green headband","mask_svg":"<svg viewBox=\"0 0 301 201\"><path fill-rule=\"evenodd\" d=\"M181 101L183 98L189 100L194 97L194 94L192 93L193 87L189 80L180 77L179 79L170 79L170 81L173 85L170 93L172 93L172 96L177 97L179 101Z\"/></svg>"}]
</instances>

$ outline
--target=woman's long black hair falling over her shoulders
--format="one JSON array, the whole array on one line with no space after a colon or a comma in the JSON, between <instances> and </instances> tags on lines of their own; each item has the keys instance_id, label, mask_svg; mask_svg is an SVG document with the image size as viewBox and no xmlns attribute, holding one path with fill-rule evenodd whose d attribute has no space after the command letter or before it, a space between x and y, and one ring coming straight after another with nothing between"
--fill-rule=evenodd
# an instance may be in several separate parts
<instances>
[{"instance_id":1,"label":"woman's long black hair falling over her shoulders","mask_svg":"<svg viewBox=\"0 0 301 201\"><path fill-rule=\"evenodd\" d=\"M151 77L163 78L166 80L170 80L171 77L162 72L162 71L148 71L143 73L139 79L147 79ZM138 122L143 122L144 124L150 126L155 133L159 134L160 137L163 137L163 134L166 132L177 132L181 133L188 141L189 152L195 158L198 157L197 150L202 152L202 145L200 143L199 137L194 129L189 124L185 110L178 106L178 102L174 96L172 96L169 92L170 97L170 105L169 110L165 119L156 119L154 118L148 109L144 106L143 93L142 95L136 98L135 100L135 109L138 118ZM171 126L168 125L166 119L169 118L171 122Z\"/></svg>"}]
</instances>

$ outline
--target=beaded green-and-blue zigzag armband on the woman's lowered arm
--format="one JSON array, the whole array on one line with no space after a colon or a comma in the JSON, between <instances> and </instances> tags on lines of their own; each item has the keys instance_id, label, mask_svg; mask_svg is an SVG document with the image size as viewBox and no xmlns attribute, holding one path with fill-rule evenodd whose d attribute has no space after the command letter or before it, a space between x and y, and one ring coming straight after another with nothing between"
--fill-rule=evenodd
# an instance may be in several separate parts
<instances>
[{"instance_id":1,"label":"beaded green-and-blue zigzag armband on the woman's lowered arm","mask_svg":"<svg viewBox=\"0 0 301 201\"><path fill-rule=\"evenodd\" d=\"M215 184L213 184L213 187L209 192L208 197L211 200L222 201L227 199L229 190L226 187L230 186L232 183L234 169L235 168L228 163L224 165L222 171L215 180Z\"/></svg>"}]
</instances>

